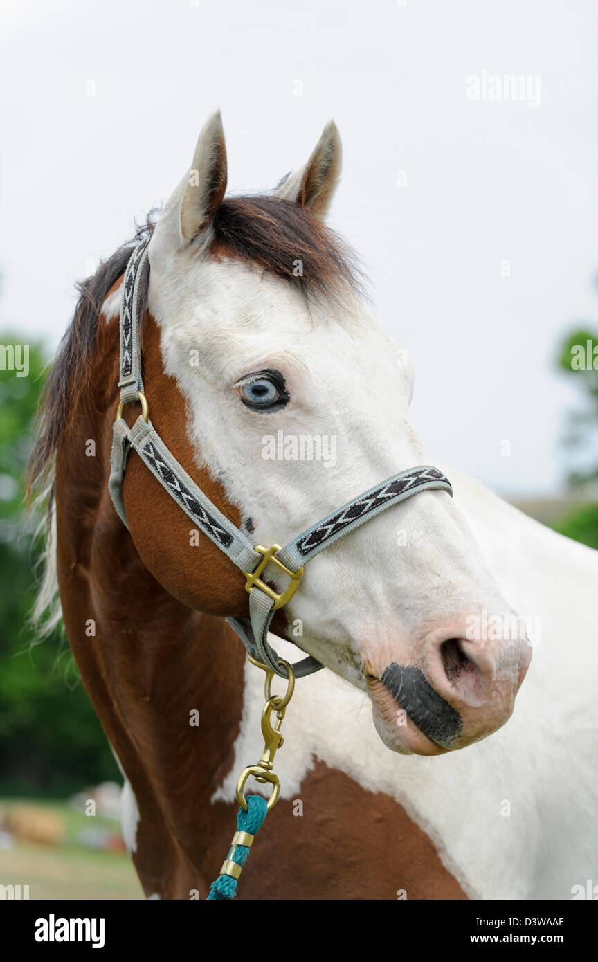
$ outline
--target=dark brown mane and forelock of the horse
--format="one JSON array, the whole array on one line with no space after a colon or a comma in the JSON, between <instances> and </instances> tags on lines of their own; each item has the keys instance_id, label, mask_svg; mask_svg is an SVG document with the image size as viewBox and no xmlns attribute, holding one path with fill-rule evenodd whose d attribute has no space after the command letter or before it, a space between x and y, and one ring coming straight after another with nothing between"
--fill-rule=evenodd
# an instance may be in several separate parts
<instances>
[{"instance_id":1,"label":"dark brown mane and forelock of the horse","mask_svg":"<svg viewBox=\"0 0 598 962\"><path fill-rule=\"evenodd\" d=\"M79 300L41 392L38 433L29 464L28 492L43 483L67 426L85 390L93 355L97 319L113 284L127 266L134 246L155 227L152 212L95 274L77 285ZM347 287L362 293L361 269L351 249L304 208L273 195L225 198L212 221L213 257L229 256L254 264L301 291L306 299L334 297ZM301 262L298 273L296 262ZM140 314L147 296L141 292Z\"/></svg>"}]
</instances>

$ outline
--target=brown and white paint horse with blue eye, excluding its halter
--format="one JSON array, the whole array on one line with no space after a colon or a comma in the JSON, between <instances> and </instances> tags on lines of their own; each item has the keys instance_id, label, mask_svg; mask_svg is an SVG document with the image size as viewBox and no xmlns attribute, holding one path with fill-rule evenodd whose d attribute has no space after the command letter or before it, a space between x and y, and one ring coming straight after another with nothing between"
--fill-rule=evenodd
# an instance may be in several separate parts
<instances>
[{"instance_id":1,"label":"brown and white paint horse with blue eye, excluding its halter","mask_svg":"<svg viewBox=\"0 0 598 962\"><path fill-rule=\"evenodd\" d=\"M135 451L127 525L112 503L112 424L138 416L118 411L123 274L145 242L152 424L253 544L285 544L423 459L411 362L325 222L340 166L331 121L276 189L225 196L213 114L162 214L80 286L40 402L35 615L42 632L62 617L150 899L206 898L263 696L227 621L248 611L230 558ZM421 491L350 531L274 614L283 657L324 671L297 680L242 899L568 899L595 877L598 553L449 474L453 498Z\"/></svg>"}]
</instances>

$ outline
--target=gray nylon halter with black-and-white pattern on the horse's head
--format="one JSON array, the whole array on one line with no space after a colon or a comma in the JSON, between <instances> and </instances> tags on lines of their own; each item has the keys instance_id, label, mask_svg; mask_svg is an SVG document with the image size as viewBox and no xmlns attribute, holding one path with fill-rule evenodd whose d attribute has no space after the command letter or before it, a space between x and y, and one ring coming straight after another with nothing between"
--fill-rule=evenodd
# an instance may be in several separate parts
<instances>
[{"instance_id":1,"label":"gray nylon halter with black-and-white pattern on the horse's head","mask_svg":"<svg viewBox=\"0 0 598 962\"><path fill-rule=\"evenodd\" d=\"M439 489L453 494L450 481L437 468L421 465L409 468L388 478L383 484L370 488L364 494L348 501L326 518L312 524L284 547L271 545L254 547L247 536L235 524L218 511L215 504L197 487L185 468L172 456L162 439L154 430L147 414L147 402L141 380L141 356L139 348L139 286L147 263L148 241L138 244L127 265L122 285L120 306L120 405L112 428L112 458L109 481L112 502L120 519L127 525L122 500L122 479L127 459L132 449L141 461L158 478L162 488L170 494L199 528L221 551L237 565L246 577L249 592L249 618L229 618L247 651L276 674L287 677L278 664L276 651L268 644L268 628L277 608L283 607L294 595L301 577L303 565L339 538L353 531L381 511L404 501L420 491ZM133 427L122 418L122 408L131 401L141 401L142 414ZM289 580L287 591L278 595L260 577L267 569L274 573L274 566L283 570ZM266 575L267 576L267 572ZM323 668L315 658L308 656L293 665L298 677Z\"/></svg>"}]
</instances>

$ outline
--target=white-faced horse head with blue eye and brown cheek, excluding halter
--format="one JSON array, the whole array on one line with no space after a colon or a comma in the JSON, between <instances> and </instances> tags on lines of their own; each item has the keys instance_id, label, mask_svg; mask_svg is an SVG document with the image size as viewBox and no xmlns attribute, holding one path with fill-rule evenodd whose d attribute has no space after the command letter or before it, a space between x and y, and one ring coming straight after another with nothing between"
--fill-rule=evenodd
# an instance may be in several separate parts
<instances>
[{"instance_id":1,"label":"white-faced horse head with blue eye and brown cheek, excluding halter","mask_svg":"<svg viewBox=\"0 0 598 962\"><path fill-rule=\"evenodd\" d=\"M273 193L225 198L214 114L149 242L143 358L153 423L253 544L286 544L424 461L411 364L323 220L340 155L331 122ZM135 455L123 500L138 554L170 594L200 611L246 614L242 576L194 538ZM371 698L388 747L436 754L506 722L527 671L525 639L471 630L482 612L514 616L459 497L425 491L314 557L272 630Z\"/></svg>"}]
</instances>

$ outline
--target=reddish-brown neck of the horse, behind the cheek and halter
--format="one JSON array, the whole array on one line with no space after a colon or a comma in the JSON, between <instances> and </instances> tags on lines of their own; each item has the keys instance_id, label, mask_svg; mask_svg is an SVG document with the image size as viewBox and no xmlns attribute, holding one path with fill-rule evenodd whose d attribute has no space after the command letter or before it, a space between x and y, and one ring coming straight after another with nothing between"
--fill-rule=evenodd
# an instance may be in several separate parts
<instances>
[{"instance_id":1,"label":"reddish-brown neck of the horse, behind the cheek and halter","mask_svg":"<svg viewBox=\"0 0 598 962\"><path fill-rule=\"evenodd\" d=\"M199 803L233 764L244 657L224 620L162 588L113 509L107 485L117 341L114 321L98 330L90 382L57 454L63 619L141 818L144 807L158 807L175 834L193 824L196 839ZM93 456L86 455L89 441Z\"/></svg>"}]
</instances>

